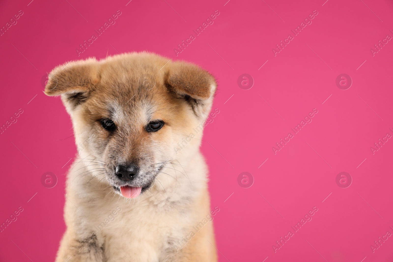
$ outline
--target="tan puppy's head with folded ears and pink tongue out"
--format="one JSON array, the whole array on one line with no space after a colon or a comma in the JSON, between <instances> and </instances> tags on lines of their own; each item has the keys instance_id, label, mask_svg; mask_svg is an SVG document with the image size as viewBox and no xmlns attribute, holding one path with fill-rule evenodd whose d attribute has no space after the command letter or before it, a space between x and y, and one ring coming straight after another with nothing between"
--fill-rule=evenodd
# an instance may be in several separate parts
<instances>
[{"instance_id":1,"label":"tan puppy's head with folded ears and pink tongue out","mask_svg":"<svg viewBox=\"0 0 393 262\"><path fill-rule=\"evenodd\" d=\"M166 163L198 149L198 139L180 155L174 147L209 113L216 83L208 72L148 53L62 68L50 73L45 93L61 95L77 145L84 145L81 158L104 165L123 196L138 196Z\"/></svg>"}]
</instances>

